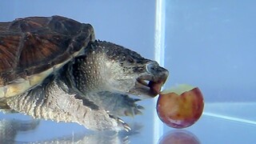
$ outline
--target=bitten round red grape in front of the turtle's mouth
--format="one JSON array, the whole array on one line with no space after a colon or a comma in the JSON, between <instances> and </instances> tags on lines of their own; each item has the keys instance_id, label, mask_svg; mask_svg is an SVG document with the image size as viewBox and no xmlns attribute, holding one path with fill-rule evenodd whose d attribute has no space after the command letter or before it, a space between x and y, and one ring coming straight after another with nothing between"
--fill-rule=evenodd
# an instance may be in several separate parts
<instances>
[{"instance_id":1,"label":"bitten round red grape in front of the turtle's mouth","mask_svg":"<svg viewBox=\"0 0 256 144\"><path fill-rule=\"evenodd\" d=\"M203 107L201 90L189 85L160 92L157 102L158 117L174 128L193 125L201 117Z\"/></svg>"}]
</instances>

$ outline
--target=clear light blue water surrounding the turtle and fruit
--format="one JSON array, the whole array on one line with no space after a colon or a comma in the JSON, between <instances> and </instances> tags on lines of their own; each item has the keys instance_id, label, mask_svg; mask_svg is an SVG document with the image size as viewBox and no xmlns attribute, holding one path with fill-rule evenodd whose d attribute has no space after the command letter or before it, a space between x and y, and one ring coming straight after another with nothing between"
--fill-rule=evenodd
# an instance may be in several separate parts
<instances>
[{"instance_id":1,"label":"clear light blue water surrounding the turtle and fruit","mask_svg":"<svg viewBox=\"0 0 256 144\"><path fill-rule=\"evenodd\" d=\"M188 83L205 97L202 118L185 130L159 121L155 99L144 115L126 118L130 133L94 133L75 123L35 121L0 113L0 142L253 143L256 131L255 2L2 1L0 21L54 14L90 22L96 38L129 47L170 70L166 88Z\"/></svg>"}]
</instances>

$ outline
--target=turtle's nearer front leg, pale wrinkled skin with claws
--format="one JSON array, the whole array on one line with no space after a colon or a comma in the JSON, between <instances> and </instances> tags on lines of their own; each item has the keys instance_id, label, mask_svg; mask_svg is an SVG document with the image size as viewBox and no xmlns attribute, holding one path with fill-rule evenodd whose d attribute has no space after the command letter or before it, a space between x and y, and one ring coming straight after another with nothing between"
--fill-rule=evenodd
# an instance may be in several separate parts
<instances>
[{"instance_id":1,"label":"turtle's nearer front leg, pale wrinkled skin with claws","mask_svg":"<svg viewBox=\"0 0 256 144\"><path fill-rule=\"evenodd\" d=\"M77 122L90 130L130 130L125 122L112 118L106 110L90 108L83 103L74 94L63 91L54 81L7 101L10 108L33 118Z\"/></svg>"}]
</instances>

